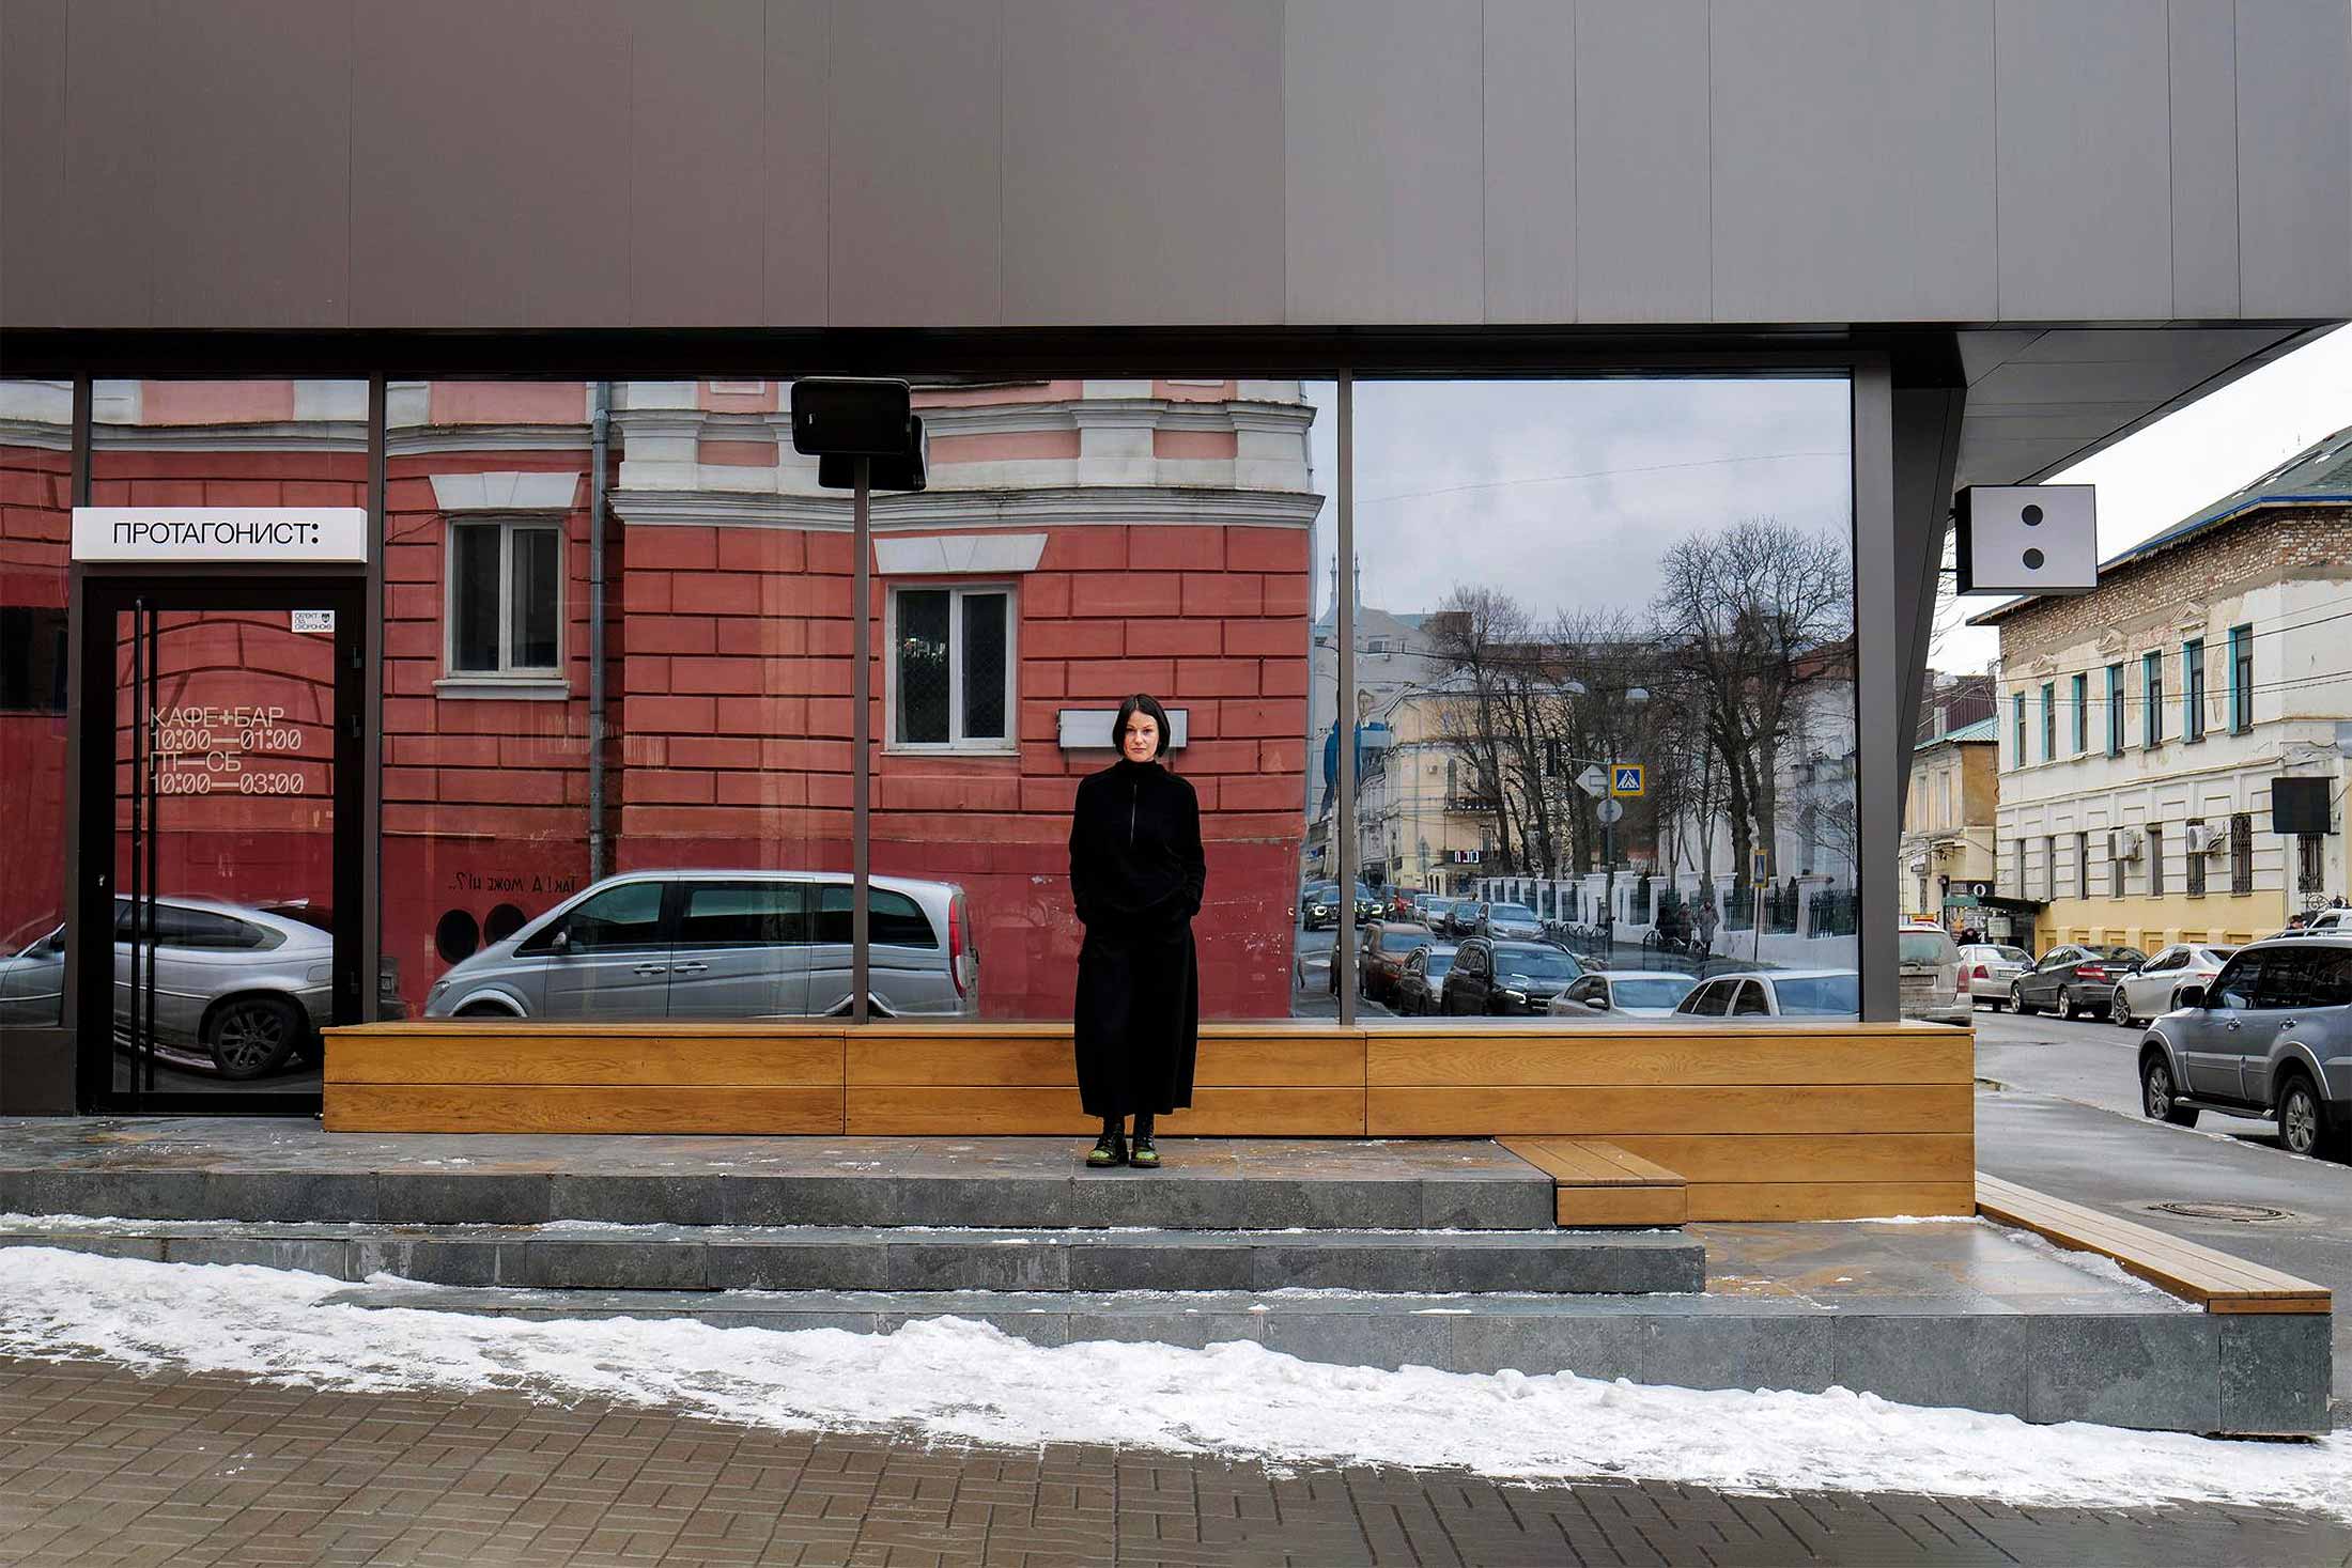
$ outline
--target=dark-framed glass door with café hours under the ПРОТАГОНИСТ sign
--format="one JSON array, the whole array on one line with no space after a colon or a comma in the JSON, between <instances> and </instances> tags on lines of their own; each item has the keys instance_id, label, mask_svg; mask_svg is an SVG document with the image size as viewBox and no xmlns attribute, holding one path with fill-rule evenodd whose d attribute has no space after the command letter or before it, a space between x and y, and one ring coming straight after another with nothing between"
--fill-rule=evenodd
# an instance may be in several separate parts
<instances>
[{"instance_id":1,"label":"dark-framed glass door with caf\u00e9 hours under the \u041f\u0420\u041e\u0422\u0410\u0413\u041e\u041d\u0418\u0421\u0422 sign","mask_svg":"<svg viewBox=\"0 0 2352 1568\"><path fill-rule=\"evenodd\" d=\"M82 682L85 1095L315 1110L360 1020L358 588L92 581Z\"/></svg>"}]
</instances>

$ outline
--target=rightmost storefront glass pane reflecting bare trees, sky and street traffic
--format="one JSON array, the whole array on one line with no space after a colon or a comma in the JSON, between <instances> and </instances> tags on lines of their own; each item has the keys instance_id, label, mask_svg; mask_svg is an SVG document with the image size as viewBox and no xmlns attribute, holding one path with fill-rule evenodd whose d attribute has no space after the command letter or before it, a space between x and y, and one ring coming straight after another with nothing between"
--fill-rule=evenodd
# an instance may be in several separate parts
<instances>
[{"instance_id":1,"label":"rightmost storefront glass pane reflecting bare trees, sky and street traffic","mask_svg":"<svg viewBox=\"0 0 2352 1568\"><path fill-rule=\"evenodd\" d=\"M1395 922L1359 1016L1856 1016L1849 418L1837 378L1357 383L1317 726Z\"/></svg>"}]
</instances>

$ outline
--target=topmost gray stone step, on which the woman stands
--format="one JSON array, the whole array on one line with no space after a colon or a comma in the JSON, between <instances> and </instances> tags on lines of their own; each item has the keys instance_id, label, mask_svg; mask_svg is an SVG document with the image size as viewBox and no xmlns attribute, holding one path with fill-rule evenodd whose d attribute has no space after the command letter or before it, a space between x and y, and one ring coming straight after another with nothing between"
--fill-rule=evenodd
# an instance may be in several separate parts
<instances>
[{"instance_id":1,"label":"topmost gray stone step, on which the woman stands","mask_svg":"<svg viewBox=\"0 0 2352 1568\"><path fill-rule=\"evenodd\" d=\"M101 1133L0 1124L0 1213L372 1225L1552 1227L1550 1178L1489 1140L1167 1140L1167 1168L1138 1173L1087 1171L1089 1140L1073 1138L379 1138L261 1119Z\"/></svg>"}]
</instances>

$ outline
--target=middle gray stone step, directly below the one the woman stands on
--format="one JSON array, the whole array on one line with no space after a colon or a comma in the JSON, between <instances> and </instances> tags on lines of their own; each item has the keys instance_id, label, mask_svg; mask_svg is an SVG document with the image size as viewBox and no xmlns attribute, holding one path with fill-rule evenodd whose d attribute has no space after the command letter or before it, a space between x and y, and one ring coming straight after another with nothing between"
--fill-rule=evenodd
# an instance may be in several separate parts
<instances>
[{"instance_id":1,"label":"middle gray stone step, directly below the one the woman stands on","mask_svg":"<svg viewBox=\"0 0 2352 1568\"><path fill-rule=\"evenodd\" d=\"M1703 1291L1679 1232L0 1220L0 1246L564 1291Z\"/></svg>"}]
</instances>

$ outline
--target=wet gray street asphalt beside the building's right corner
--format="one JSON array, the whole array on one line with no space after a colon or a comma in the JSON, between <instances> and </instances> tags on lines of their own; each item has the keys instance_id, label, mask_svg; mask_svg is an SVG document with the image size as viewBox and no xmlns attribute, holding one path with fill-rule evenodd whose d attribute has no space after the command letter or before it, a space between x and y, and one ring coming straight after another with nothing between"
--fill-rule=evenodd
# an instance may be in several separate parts
<instances>
[{"instance_id":1,"label":"wet gray street asphalt beside the building's right corner","mask_svg":"<svg viewBox=\"0 0 2352 1568\"><path fill-rule=\"evenodd\" d=\"M1976 1164L1994 1175L2286 1269L2336 1291L2336 1427L2352 1427L2352 1166L2298 1159L2277 1126L2140 1114L2140 1030L1976 1013ZM2157 1204L2249 1204L2281 1218L2192 1218Z\"/></svg>"}]
</instances>

